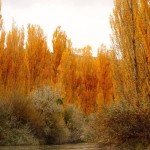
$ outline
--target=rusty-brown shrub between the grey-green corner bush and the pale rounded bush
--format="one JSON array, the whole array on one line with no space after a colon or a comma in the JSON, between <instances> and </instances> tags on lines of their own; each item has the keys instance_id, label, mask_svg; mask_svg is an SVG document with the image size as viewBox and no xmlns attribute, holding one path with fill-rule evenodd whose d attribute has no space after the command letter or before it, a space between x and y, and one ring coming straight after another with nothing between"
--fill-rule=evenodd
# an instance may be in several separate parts
<instances>
[{"instance_id":1,"label":"rusty-brown shrub between the grey-green corner bush and the pale rounded bush","mask_svg":"<svg viewBox=\"0 0 150 150\"><path fill-rule=\"evenodd\" d=\"M27 95L13 91L9 96L4 97L7 101L11 114L16 118L18 127L28 124L33 134L38 138L42 136L43 120L40 113L35 109L32 100Z\"/></svg>"}]
</instances>

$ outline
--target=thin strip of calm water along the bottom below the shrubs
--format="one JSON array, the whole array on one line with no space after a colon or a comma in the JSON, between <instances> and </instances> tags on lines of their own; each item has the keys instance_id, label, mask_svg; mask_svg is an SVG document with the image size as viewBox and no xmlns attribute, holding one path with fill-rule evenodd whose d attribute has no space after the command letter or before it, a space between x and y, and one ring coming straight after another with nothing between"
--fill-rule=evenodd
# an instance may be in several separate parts
<instances>
[{"instance_id":1,"label":"thin strip of calm water along the bottom below the shrubs","mask_svg":"<svg viewBox=\"0 0 150 150\"><path fill-rule=\"evenodd\" d=\"M100 150L95 144L66 144L45 146L0 146L0 150Z\"/></svg>"}]
</instances>

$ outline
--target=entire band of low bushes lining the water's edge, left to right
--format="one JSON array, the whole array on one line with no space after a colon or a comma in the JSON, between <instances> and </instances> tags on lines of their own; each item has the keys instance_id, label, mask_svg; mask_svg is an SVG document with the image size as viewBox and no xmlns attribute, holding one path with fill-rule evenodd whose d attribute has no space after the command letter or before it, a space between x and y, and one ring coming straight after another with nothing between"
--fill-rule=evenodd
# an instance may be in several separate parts
<instances>
[{"instance_id":1,"label":"entire band of low bushes lining the water's edge, left to right","mask_svg":"<svg viewBox=\"0 0 150 150\"><path fill-rule=\"evenodd\" d=\"M74 105L63 106L50 87L30 96L17 91L0 97L0 145L38 145L77 142L99 143L115 149L148 149L150 104L126 102L103 106L85 115Z\"/></svg>"}]
</instances>

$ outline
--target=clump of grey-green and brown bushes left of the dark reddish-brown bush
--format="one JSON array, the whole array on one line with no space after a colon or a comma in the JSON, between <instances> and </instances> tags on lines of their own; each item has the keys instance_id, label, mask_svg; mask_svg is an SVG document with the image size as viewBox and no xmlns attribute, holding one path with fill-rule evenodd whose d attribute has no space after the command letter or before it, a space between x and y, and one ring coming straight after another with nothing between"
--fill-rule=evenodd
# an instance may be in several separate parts
<instances>
[{"instance_id":1,"label":"clump of grey-green and brown bushes left of the dark reddish-brown bush","mask_svg":"<svg viewBox=\"0 0 150 150\"><path fill-rule=\"evenodd\" d=\"M45 87L30 96L0 97L0 145L81 142L85 117L73 105L63 107L58 92Z\"/></svg>"}]
</instances>

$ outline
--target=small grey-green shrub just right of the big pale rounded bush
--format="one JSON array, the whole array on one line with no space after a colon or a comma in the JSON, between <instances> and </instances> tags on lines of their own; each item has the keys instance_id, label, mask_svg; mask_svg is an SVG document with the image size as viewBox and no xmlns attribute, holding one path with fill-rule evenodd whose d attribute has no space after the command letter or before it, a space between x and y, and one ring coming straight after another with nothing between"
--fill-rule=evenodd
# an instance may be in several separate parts
<instances>
[{"instance_id":1,"label":"small grey-green shrub just right of the big pale rounded bush","mask_svg":"<svg viewBox=\"0 0 150 150\"><path fill-rule=\"evenodd\" d=\"M64 119L71 132L69 142L81 142L85 125L85 117L81 110L74 105L69 105L64 112Z\"/></svg>"}]
</instances>

